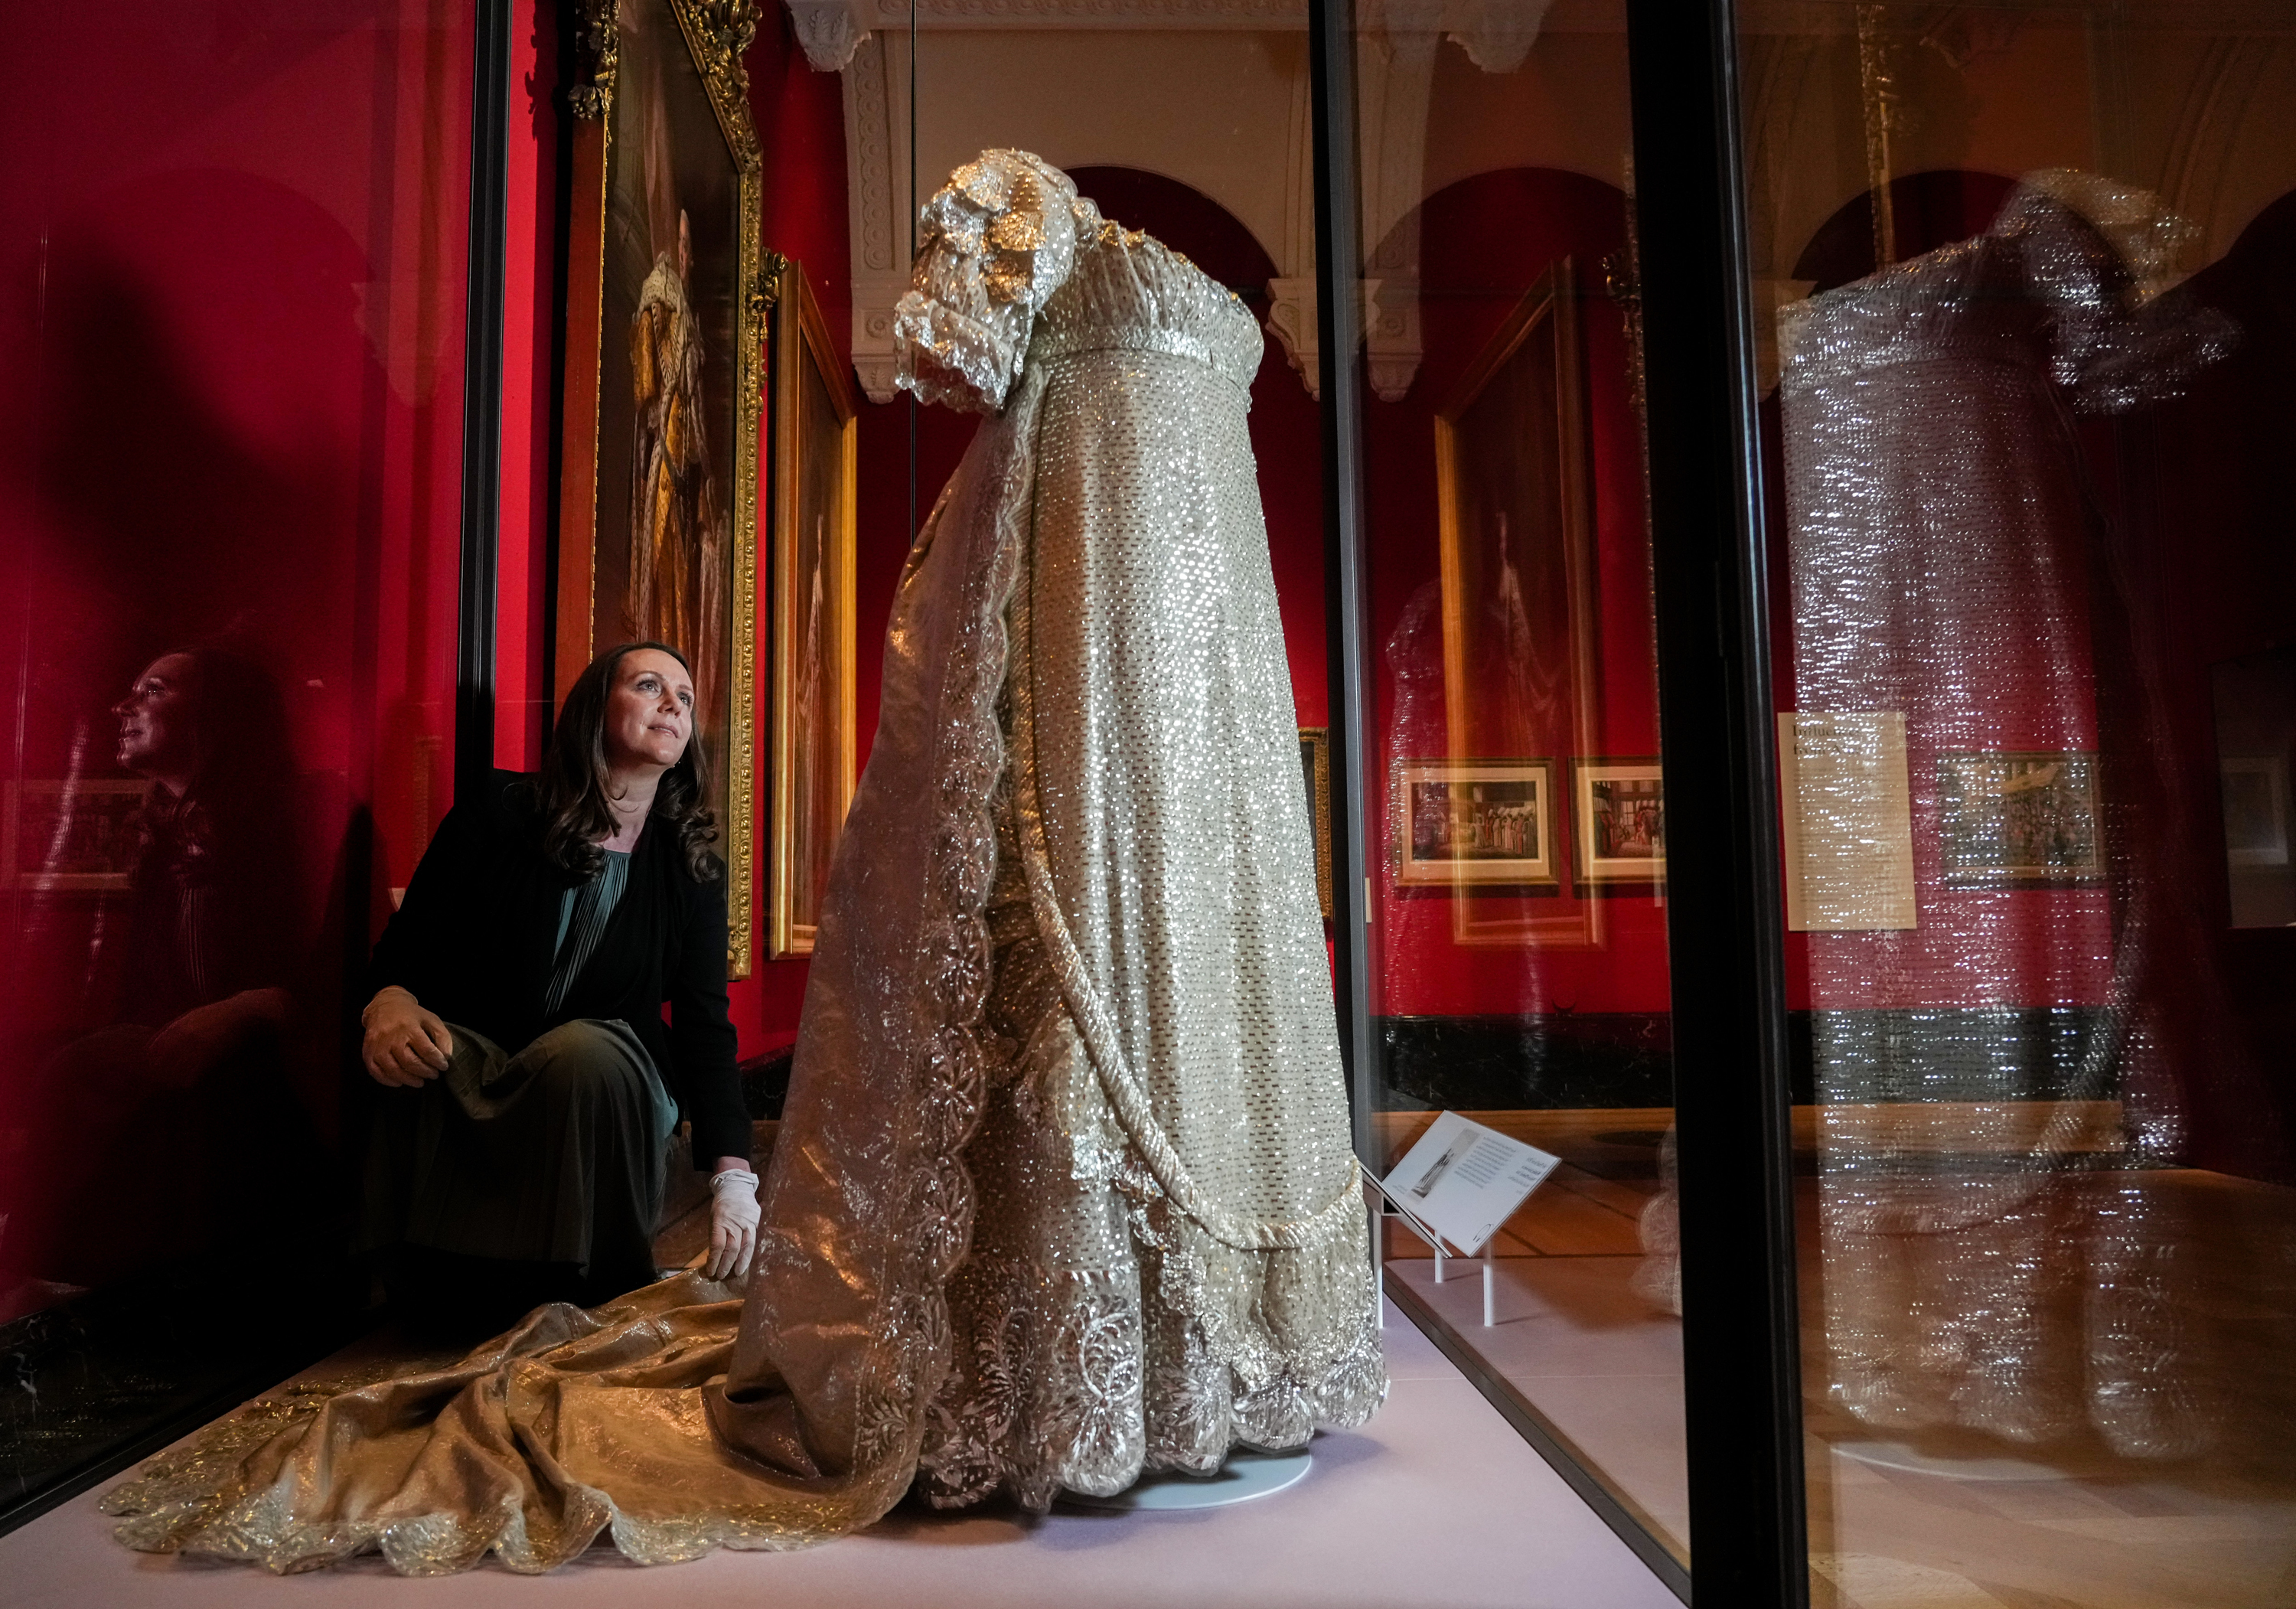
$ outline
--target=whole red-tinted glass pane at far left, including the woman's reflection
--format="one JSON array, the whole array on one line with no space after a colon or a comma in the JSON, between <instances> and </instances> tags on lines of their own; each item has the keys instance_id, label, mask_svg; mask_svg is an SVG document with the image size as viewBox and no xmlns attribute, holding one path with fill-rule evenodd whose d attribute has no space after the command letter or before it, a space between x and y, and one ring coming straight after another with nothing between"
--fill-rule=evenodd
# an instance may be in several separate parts
<instances>
[{"instance_id":1,"label":"whole red-tinted glass pane at far left, including the woman's reflection","mask_svg":"<svg viewBox=\"0 0 2296 1609\"><path fill-rule=\"evenodd\" d=\"M365 1304L344 992L452 796L471 14L21 18L0 1506Z\"/></svg>"}]
</instances>

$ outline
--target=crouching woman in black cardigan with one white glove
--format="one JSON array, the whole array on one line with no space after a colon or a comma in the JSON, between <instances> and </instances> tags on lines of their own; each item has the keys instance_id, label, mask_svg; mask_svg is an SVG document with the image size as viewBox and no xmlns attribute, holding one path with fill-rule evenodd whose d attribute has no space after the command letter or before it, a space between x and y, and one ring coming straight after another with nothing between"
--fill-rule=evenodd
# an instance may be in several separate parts
<instances>
[{"instance_id":1,"label":"crouching woman in black cardigan with one white glove","mask_svg":"<svg viewBox=\"0 0 2296 1609\"><path fill-rule=\"evenodd\" d=\"M726 1017L726 875L693 677L661 643L574 682L540 776L439 824L374 946L367 1237L413 1317L471 1329L654 1281L668 1138L712 1173L707 1274L748 1272L758 1180ZM670 1021L664 1026L661 1005Z\"/></svg>"}]
</instances>

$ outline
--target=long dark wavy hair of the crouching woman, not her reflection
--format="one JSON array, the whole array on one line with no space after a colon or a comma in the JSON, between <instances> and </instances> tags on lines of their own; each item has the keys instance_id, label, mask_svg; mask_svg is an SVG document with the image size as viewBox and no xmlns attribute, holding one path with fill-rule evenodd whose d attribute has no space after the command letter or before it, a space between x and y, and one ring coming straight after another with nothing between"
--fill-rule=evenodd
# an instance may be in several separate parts
<instances>
[{"instance_id":1,"label":"long dark wavy hair of the crouching woman, not her reflection","mask_svg":"<svg viewBox=\"0 0 2296 1609\"><path fill-rule=\"evenodd\" d=\"M542 810L544 858L583 881L606 868L602 838L613 835L613 806L606 803L606 700L625 656L641 650L668 654L687 675L693 666L668 643L622 643L608 647L574 677L567 702L558 712L558 730L542 755L542 776L535 780L535 803ZM716 852L716 810L703 803L709 796L709 757L703 753L700 712L696 730L687 739L687 753L661 774L654 790L654 813L647 822L654 829L675 829L677 847L687 858L687 875L698 884L714 884L723 872Z\"/></svg>"}]
</instances>

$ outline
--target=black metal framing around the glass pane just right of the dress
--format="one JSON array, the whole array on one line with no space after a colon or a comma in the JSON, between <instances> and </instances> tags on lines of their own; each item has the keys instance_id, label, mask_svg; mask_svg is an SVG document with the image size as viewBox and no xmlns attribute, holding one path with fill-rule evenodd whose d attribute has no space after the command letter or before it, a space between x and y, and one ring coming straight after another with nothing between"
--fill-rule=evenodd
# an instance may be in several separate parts
<instances>
[{"instance_id":1,"label":"black metal framing around the glass pane just right of the dress","mask_svg":"<svg viewBox=\"0 0 2296 1609\"><path fill-rule=\"evenodd\" d=\"M1352 0L1311 0L1316 292L1334 748L1339 1005L1373 1157L1362 372ZM1628 0L1651 452L1667 959L1683 1223L1690 1579L1483 1368L1469 1377L1685 1600L1805 1609L1786 964L1761 429L1733 0ZM1430 1329L1437 1345L1440 1327ZM1460 1347L1446 1352L1456 1361ZM1463 1361L1465 1366L1465 1361Z\"/></svg>"}]
</instances>

